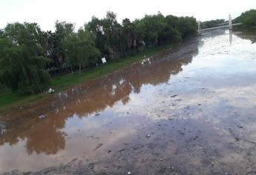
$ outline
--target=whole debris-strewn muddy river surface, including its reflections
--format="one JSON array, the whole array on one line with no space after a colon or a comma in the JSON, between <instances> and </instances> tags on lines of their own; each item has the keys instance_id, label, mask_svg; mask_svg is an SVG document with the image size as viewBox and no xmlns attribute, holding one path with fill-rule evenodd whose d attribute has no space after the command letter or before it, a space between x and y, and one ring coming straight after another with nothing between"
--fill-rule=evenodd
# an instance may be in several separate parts
<instances>
[{"instance_id":1,"label":"whole debris-strewn muddy river surface, including its reflections","mask_svg":"<svg viewBox=\"0 0 256 175\"><path fill-rule=\"evenodd\" d=\"M1 113L0 174L256 174L255 41L204 33Z\"/></svg>"}]
</instances>

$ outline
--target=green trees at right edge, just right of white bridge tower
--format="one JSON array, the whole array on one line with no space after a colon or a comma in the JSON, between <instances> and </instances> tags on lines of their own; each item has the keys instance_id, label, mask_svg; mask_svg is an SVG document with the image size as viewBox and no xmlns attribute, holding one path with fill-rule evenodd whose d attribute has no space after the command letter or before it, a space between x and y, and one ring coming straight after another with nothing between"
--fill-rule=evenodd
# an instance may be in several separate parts
<instances>
[{"instance_id":1,"label":"green trees at right edge, just right of white bridge tower","mask_svg":"<svg viewBox=\"0 0 256 175\"><path fill-rule=\"evenodd\" d=\"M242 27L245 29L256 27L256 10L252 9L242 13L233 22L242 22Z\"/></svg>"}]
</instances>

